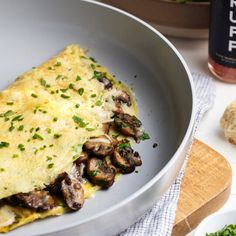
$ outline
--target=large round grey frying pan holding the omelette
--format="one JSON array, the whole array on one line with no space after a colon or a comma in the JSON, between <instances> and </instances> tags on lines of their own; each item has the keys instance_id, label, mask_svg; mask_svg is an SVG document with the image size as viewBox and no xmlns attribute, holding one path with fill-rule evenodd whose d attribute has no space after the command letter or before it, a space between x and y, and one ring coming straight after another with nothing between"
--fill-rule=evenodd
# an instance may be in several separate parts
<instances>
[{"instance_id":1,"label":"large round grey frying pan holding the omelette","mask_svg":"<svg viewBox=\"0 0 236 236\"><path fill-rule=\"evenodd\" d=\"M99 191L75 213L7 235L114 235L135 222L173 183L193 129L193 88L174 46L138 18L93 1L0 0L0 89L78 43L135 91L151 139L135 146L143 165ZM158 148L153 148L158 143Z\"/></svg>"}]
</instances>

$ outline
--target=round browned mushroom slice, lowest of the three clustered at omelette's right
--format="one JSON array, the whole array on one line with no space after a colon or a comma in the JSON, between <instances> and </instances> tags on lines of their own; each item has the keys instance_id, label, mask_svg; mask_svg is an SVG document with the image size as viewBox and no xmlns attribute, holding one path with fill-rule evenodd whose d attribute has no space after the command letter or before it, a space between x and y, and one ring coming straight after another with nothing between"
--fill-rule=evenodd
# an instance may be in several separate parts
<instances>
[{"instance_id":1,"label":"round browned mushroom slice, lowest of the three clustered at omelette's right","mask_svg":"<svg viewBox=\"0 0 236 236\"><path fill-rule=\"evenodd\" d=\"M115 169L109 166L105 160L91 158L86 165L89 180L103 188L109 188L115 179Z\"/></svg>"}]
</instances>

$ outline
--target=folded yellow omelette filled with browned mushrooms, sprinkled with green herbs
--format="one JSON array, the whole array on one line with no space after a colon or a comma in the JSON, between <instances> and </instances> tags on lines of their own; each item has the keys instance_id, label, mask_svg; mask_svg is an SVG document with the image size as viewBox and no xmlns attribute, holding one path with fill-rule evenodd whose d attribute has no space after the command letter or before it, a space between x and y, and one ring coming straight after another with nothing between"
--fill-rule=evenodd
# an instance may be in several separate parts
<instances>
[{"instance_id":1,"label":"folded yellow omelette filled with browned mushrooms, sprinkled with green herbs","mask_svg":"<svg viewBox=\"0 0 236 236\"><path fill-rule=\"evenodd\" d=\"M132 90L78 45L0 93L0 232L77 211L142 164Z\"/></svg>"}]
</instances>

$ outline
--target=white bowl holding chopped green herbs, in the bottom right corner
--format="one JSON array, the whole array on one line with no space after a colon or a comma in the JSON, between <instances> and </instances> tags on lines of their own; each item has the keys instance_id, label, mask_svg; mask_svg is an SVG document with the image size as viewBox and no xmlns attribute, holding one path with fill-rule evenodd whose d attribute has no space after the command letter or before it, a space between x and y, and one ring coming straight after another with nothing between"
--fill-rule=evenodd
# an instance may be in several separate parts
<instances>
[{"instance_id":1,"label":"white bowl holding chopped green herbs, in the bottom right corner","mask_svg":"<svg viewBox=\"0 0 236 236\"><path fill-rule=\"evenodd\" d=\"M236 224L236 210L217 212L208 216L196 229L194 236L203 236L223 229L228 224Z\"/></svg>"}]
</instances>

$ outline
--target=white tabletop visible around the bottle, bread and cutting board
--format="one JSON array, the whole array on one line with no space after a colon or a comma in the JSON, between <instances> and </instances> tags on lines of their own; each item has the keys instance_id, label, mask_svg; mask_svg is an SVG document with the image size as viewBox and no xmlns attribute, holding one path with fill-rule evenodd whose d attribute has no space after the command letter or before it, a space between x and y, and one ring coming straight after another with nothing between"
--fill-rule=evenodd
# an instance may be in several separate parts
<instances>
[{"instance_id":1,"label":"white tabletop visible around the bottle, bread and cutting board","mask_svg":"<svg viewBox=\"0 0 236 236\"><path fill-rule=\"evenodd\" d=\"M169 38L186 60L191 71L212 74L207 67L208 40ZM213 77L213 76L212 76ZM233 170L233 184L229 200L219 210L225 211L236 207L236 146L228 143L219 125L219 120L226 106L236 98L236 84L227 84L215 80L216 97L213 108L203 117L198 128L197 138L221 153L230 162ZM193 232L188 236L192 236Z\"/></svg>"}]
</instances>

